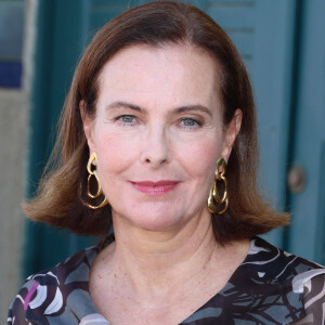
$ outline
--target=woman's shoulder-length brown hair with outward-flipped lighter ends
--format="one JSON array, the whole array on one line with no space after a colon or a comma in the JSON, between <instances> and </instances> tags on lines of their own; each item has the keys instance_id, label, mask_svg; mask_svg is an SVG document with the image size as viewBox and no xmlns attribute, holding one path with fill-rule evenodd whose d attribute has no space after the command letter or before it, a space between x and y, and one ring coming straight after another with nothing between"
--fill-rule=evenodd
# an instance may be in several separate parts
<instances>
[{"instance_id":1,"label":"woman's shoulder-length brown hair with outward-flipped lighter ends","mask_svg":"<svg viewBox=\"0 0 325 325\"><path fill-rule=\"evenodd\" d=\"M257 190L258 143L251 86L244 63L226 34L197 8L173 1L156 1L129 9L108 22L86 49L75 72L61 117L61 130L52 155L57 161L48 168L37 196L24 205L25 213L87 235L106 235L112 226L110 207L87 208L87 161L90 156L83 133L79 103L94 117L99 75L118 51L134 44L160 47L190 43L209 52L221 67L223 122L243 110L240 131L227 162L229 209L212 216L219 243L250 238L288 223ZM217 161L216 161L217 164ZM53 164L50 164L53 166ZM100 198L101 199L101 198Z\"/></svg>"}]
</instances>

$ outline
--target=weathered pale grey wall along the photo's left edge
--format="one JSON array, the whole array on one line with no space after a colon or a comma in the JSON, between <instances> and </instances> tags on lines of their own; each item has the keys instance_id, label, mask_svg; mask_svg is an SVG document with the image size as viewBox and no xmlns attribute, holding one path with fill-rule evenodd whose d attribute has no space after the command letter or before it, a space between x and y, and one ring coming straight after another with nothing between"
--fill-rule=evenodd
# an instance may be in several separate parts
<instances>
[{"instance_id":1,"label":"weathered pale grey wall along the photo's left edge","mask_svg":"<svg viewBox=\"0 0 325 325\"><path fill-rule=\"evenodd\" d=\"M28 140L29 87L32 72L35 13L38 0L25 0L23 88L0 89L0 324L21 283L24 200Z\"/></svg>"}]
</instances>

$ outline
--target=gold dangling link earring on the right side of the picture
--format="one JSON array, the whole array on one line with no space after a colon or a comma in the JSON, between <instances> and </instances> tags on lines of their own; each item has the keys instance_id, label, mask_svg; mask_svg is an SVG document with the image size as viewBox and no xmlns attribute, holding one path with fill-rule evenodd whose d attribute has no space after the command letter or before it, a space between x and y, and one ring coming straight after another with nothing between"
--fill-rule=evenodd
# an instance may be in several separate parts
<instances>
[{"instance_id":1,"label":"gold dangling link earring on the right side of the picture","mask_svg":"<svg viewBox=\"0 0 325 325\"><path fill-rule=\"evenodd\" d=\"M219 168L222 167L222 171L219 171ZM226 162L224 161L223 158L220 158L217 162L217 168L214 172L214 181L212 184L212 187L210 188L209 193L209 198L208 198L208 209L210 213L219 213L222 214L223 212L226 211L227 206L229 206L229 200L227 200L227 184L226 184L226 179L225 179L225 172L226 172ZM222 198L220 198L219 191L218 191L218 182L223 181L224 183L224 192L222 195ZM216 204L218 205L224 205L222 210L218 210L216 207Z\"/></svg>"}]
</instances>

